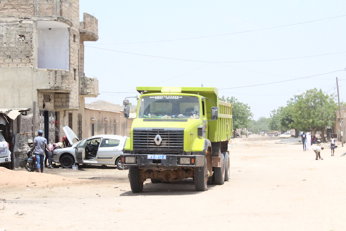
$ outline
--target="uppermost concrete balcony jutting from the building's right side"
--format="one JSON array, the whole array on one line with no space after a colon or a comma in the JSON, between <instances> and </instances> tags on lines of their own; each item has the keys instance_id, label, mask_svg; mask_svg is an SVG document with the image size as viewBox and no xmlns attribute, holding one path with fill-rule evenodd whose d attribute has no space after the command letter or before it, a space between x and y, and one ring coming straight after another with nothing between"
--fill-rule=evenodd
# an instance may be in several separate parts
<instances>
[{"instance_id":1,"label":"uppermost concrete balcony jutting from the building's right side","mask_svg":"<svg viewBox=\"0 0 346 231\"><path fill-rule=\"evenodd\" d=\"M87 13L83 13L83 22L80 22L81 41L98 40L98 21Z\"/></svg>"}]
</instances>

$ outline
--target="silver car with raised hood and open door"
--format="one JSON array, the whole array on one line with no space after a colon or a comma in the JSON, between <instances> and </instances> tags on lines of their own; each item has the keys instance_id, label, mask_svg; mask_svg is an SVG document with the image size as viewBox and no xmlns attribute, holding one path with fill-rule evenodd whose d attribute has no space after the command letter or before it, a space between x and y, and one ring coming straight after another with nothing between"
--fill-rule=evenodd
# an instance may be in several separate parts
<instances>
[{"instance_id":1,"label":"silver car with raised hood and open door","mask_svg":"<svg viewBox=\"0 0 346 231\"><path fill-rule=\"evenodd\" d=\"M116 165L123 170L120 155L128 137L117 135L97 135L86 139L78 140L77 136L65 126L63 128L71 147L56 148L53 150L51 160L60 163L63 168L71 168L74 163L96 164L96 165Z\"/></svg>"}]
</instances>

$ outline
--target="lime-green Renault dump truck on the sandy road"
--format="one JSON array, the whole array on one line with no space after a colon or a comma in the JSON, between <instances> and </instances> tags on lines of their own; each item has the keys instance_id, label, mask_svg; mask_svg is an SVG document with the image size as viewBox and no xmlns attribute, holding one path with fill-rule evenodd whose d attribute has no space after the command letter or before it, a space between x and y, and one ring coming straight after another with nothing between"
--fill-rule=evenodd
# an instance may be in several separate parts
<instances>
[{"instance_id":1,"label":"lime-green Renault dump truck on the sandy road","mask_svg":"<svg viewBox=\"0 0 346 231\"><path fill-rule=\"evenodd\" d=\"M140 93L121 162L129 167L132 192L143 182L193 178L196 191L229 180L228 141L232 104L218 100L216 88L137 87ZM124 100L129 118L129 100Z\"/></svg>"}]
</instances>

